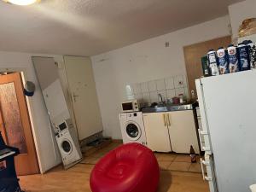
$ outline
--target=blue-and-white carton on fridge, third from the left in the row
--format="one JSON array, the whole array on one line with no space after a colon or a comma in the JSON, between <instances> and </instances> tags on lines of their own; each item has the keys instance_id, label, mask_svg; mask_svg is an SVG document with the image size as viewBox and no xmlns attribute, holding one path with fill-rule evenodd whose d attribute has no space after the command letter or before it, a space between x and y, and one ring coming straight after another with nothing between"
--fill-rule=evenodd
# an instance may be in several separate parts
<instances>
[{"instance_id":1,"label":"blue-and-white carton on fridge, third from the left in the row","mask_svg":"<svg viewBox=\"0 0 256 192\"><path fill-rule=\"evenodd\" d=\"M230 73L228 51L223 47L218 48L217 57L218 57L219 73L220 74Z\"/></svg>"}]
</instances>

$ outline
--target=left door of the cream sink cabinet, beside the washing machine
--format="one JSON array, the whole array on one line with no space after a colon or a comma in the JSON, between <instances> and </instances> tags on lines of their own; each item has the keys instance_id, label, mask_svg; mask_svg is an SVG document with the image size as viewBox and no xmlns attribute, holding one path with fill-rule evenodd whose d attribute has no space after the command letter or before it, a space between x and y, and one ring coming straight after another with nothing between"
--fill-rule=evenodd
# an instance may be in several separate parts
<instances>
[{"instance_id":1,"label":"left door of the cream sink cabinet, beside the washing machine","mask_svg":"<svg viewBox=\"0 0 256 192\"><path fill-rule=\"evenodd\" d=\"M143 120L148 148L158 152L172 151L166 113L144 113Z\"/></svg>"}]
</instances>

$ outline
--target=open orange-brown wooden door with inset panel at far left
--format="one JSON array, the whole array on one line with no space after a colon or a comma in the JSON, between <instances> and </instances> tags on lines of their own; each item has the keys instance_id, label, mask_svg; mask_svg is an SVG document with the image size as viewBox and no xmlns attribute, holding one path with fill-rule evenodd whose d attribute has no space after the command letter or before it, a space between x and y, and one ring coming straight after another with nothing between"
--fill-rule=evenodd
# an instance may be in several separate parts
<instances>
[{"instance_id":1,"label":"open orange-brown wooden door with inset panel at far left","mask_svg":"<svg viewBox=\"0 0 256 192\"><path fill-rule=\"evenodd\" d=\"M39 173L20 73L0 75L0 113L0 131L5 143L20 149L15 157L17 174Z\"/></svg>"}]
</instances>

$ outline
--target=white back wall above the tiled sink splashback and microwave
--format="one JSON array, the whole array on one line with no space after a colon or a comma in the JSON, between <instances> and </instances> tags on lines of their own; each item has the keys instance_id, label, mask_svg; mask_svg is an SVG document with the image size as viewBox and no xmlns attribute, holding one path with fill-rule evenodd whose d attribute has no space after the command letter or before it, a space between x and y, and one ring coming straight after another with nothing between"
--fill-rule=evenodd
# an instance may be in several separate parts
<instances>
[{"instance_id":1,"label":"white back wall above the tiled sink splashback and microwave","mask_svg":"<svg viewBox=\"0 0 256 192\"><path fill-rule=\"evenodd\" d=\"M121 138L118 113L125 100L125 84L186 74L183 46L230 35L229 24L229 16L224 16L92 56L104 135Z\"/></svg>"}]
</instances>

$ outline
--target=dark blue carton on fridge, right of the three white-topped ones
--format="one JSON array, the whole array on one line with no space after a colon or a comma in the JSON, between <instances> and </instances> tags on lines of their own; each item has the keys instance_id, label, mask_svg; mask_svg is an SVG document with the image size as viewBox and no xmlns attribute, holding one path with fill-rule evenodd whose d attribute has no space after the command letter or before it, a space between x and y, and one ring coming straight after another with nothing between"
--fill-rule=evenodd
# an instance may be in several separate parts
<instances>
[{"instance_id":1,"label":"dark blue carton on fridge, right of the three white-topped ones","mask_svg":"<svg viewBox=\"0 0 256 192\"><path fill-rule=\"evenodd\" d=\"M238 44L240 70L246 71L251 69L249 46L245 44Z\"/></svg>"}]
</instances>

